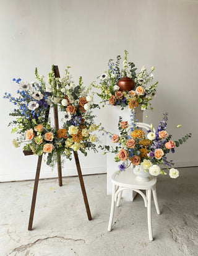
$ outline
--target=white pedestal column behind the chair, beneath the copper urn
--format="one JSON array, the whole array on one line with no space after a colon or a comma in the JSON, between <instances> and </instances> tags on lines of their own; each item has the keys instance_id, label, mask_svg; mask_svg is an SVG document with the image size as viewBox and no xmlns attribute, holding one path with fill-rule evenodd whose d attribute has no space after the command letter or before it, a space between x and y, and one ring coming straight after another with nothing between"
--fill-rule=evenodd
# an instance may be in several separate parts
<instances>
[{"instance_id":1,"label":"white pedestal column behind the chair, beneath the copper urn","mask_svg":"<svg viewBox=\"0 0 198 256\"><path fill-rule=\"evenodd\" d=\"M123 121L128 121L130 123L130 109L125 107L124 110L121 110L119 106L106 105L106 124L105 129L111 131L111 133L119 134L118 130L118 121L119 116L123 117ZM143 111L140 110L140 107L136 108L136 119L142 122L143 120ZM106 137L106 144L110 146L115 146L114 143L111 143L111 139ZM111 185L111 176L113 173L118 170L118 162L114 162L115 154L107 153L106 154L106 166L107 166L107 195L112 194L112 185ZM127 170L126 170L127 171ZM130 191L123 191L124 200L131 201L134 198L134 194Z\"/></svg>"}]
</instances>

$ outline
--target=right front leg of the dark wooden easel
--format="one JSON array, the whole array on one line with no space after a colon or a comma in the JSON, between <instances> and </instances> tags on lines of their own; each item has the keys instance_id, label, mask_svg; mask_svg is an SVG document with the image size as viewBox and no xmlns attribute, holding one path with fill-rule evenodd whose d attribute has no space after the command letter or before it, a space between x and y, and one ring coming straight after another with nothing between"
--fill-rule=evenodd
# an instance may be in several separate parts
<instances>
[{"instance_id":1,"label":"right front leg of the dark wooden easel","mask_svg":"<svg viewBox=\"0 0 198 256\"><path fill-rule=\"evenodd\" d=\"M81 172L81 169L80 169L79 156L78 156L77 152L75 152L75 151L74 151L74 158L75 158L75 164L76 164L76 167L77 167L77 172L79 174L80 187L81 187L81 190L82 190L82 195L84 197L85 207L86 207L86 210L87 210L87 217L88 217L88 220L91 221L92 220L92 215L90 213L90 208L89 208L88 200L87 200L87 193L86 193L86 190L85 190L84 180L83 180L82 172Z\"/></svg>"}]
</instances>

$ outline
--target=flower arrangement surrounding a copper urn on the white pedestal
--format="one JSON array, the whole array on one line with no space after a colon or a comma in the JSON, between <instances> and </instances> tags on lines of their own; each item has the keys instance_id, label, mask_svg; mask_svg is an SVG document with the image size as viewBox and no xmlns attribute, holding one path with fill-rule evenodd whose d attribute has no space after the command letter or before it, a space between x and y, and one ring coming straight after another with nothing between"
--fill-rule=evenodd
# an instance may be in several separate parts
<instances>
[{"instance_id":1,"label":"flower arrangement surrounding a copper urn on the white pedestal","mask_svg":"<svg viewBox=\"0 0 198 256\"><path fill-rule=\"evenodd\" d=\"M119 68L121 56L117 56L116 63L112 59L108 62L108 70L104 71L100 77L100 83L94 85L100 92L97 95L105 104L113 106L119 105L134 109L140 105L142 110L153 109L150 100L156 93L158 82L153 83L154 67L150 73L145 66L136 73L135 64L127 60L128 52L125 50L123 68Z\"/></svg>"}]
</instances>

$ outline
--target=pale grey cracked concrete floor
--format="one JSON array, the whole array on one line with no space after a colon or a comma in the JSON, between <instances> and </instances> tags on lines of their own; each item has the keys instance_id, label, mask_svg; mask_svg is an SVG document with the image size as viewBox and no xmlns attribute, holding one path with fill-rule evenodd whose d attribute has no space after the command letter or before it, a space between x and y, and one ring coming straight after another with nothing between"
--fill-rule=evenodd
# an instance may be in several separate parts
<instances>
[{"instance_id":1,"label":"pale grey cracked concrete floor","mask_svg":"<svg viewBox=\"0 0 198 256\"><path fill-rule=\"evenodd\" d=\"M152 202L154 241L149 241L147 210L140 196L122 201L107 231L111 196L106 175L84 177L92 221L88 221L78 177L41 180L33 230L28 231L33 181L0 184L1 256L197 256L198 168L179 169L176 180L160 176L158 202Z\"/></svg>"}]
</instances>

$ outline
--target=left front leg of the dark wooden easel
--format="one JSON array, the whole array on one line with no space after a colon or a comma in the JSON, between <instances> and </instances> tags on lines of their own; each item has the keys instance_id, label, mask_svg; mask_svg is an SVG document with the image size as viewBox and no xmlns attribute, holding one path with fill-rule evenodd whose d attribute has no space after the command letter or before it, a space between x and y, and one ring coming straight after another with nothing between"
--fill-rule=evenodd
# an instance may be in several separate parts
<instances>
[{"instance_id":1,"label":"left front leg of the dark wooden easel","mask_svg":"<svg viewBox=\"0 0 198 256\"><path fill-rule=\"evenodd\" d=\"M38 181L40 176L40 170L41 170L41 161L42 161L43 155L38 157L38 163L37 163L37 172L35 177L35 185L33 187L33 195L32 195L32 205L30 210L30 219L28 224L28 230L32 230L32 223L33 223L33 214L35 213L35 203L37 199L37 189L38 189Z\"/></svg>"}]
</instances>

